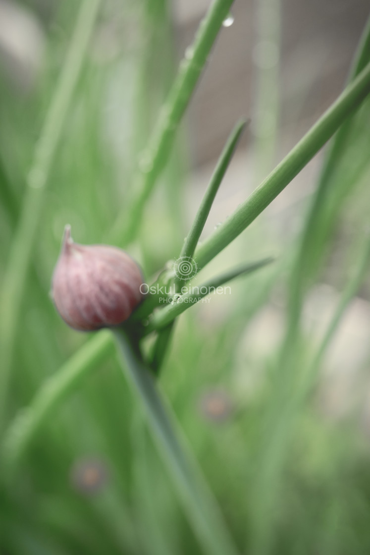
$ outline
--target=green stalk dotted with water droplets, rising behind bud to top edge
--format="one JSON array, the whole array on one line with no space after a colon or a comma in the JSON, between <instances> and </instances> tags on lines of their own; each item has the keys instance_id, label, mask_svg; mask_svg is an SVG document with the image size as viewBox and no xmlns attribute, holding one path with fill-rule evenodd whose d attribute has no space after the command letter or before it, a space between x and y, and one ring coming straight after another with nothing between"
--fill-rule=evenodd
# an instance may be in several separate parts
<instances>
[{"instance_id":1,"label":"green stalk dotted with water droplets, rising behind bud to top edge","mask_svg":"<svg viewBox=\"0 0 370 555\"><path fill-rule=\"evenodd\" d=\"M144 205L168 160L176 129L190 102L222 22L234 0L215 0L199 26L194 44L186 50L178 75L163 105L148 147L140 157L138 175L133 185L134 198L129 210L119 214L110 239L127 244L140 226Z\"/></svg>"}]
</instances>

